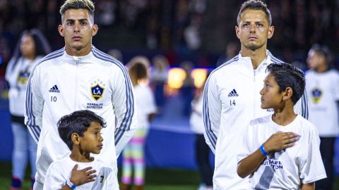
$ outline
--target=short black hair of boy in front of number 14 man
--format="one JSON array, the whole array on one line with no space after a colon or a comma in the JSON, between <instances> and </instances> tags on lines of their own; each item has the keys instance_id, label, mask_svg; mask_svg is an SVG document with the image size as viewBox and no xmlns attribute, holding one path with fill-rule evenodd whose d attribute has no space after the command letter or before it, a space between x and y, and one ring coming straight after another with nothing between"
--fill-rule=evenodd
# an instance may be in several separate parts
<instances>
[{"instance_id":1,"label":"short black hair of boy in front of number 14 man","mask_svg":"<svg viewBox=\"0 0 339 190\"><path fill-rule=\"evenodd\" d=\"M305 90L305 75L302 70L289 63L271 63L267 66L266 71L275 77L279 85L279 92L290 87L293 91L291 100L293 104L302 97Z\"/></svg>"}]
</instances>

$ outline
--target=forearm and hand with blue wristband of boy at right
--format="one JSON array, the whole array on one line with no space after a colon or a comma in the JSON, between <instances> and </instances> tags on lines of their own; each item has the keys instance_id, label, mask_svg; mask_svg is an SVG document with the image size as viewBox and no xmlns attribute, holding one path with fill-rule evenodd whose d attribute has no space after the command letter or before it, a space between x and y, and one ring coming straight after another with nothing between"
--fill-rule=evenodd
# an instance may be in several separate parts
<instances>
[{"instance_id":1,"label":"forearm and hand with blue wristband of boy at right","mask_svg":"<svg viewBox=\"0 0 339 190\"><path fill-rule=\"evenodd\" d=\"M299 140L299 136L293 132L276 132L258 148L254 153L239 162L237 173L239 177L247 177L251 175L265 160L268 153L281 151L295 145L295 141Z\"/></svg>"}]
</instances>

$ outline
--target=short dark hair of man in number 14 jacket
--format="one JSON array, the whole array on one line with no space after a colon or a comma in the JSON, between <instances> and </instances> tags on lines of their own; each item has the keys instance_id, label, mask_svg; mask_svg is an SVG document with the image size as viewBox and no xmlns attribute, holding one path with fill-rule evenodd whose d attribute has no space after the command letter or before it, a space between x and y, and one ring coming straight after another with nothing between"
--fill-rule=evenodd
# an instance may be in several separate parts
<instances>
[{"instance_id":1,"label":"short dark hair of man in number 14 jacket","mask_svg":"<svg viewBox=\"0 0 339 190\"><path fill-rule=\"evenodd\" d=\"M268 21L268 25L272 25L272 15L270 15L270 10L267 8L267 5L263 3L263 1L259 0L249 0L245 1L244 4L240 7L240 11L238 13L237 17L237 24L240 23L240 18L242 17L242 13L246 11L247 9L251 10L259 10L263 11L266 14L266 18Z\"/></svg>"}]
</instances>

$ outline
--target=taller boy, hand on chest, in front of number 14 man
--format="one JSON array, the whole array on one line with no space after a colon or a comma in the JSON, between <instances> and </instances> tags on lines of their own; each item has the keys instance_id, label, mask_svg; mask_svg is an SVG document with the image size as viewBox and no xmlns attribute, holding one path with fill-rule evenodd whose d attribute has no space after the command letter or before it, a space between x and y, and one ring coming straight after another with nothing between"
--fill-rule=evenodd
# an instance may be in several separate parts
<instances>
[{"instance_id":1,"label":"taller boy, hand on chest, in front of number 14 man","mask_svg":"<svg viewBox=\"0 0 339 190\"><path fill-rule=\"evenodd\" d=\"M237 156L237 173L252 189L314 189L326 178L319 134L293 106L305 88L304 73L287 63L272 63L261 89L261 108L273 115L252 120Z\"/></svg>"}]
</instances>

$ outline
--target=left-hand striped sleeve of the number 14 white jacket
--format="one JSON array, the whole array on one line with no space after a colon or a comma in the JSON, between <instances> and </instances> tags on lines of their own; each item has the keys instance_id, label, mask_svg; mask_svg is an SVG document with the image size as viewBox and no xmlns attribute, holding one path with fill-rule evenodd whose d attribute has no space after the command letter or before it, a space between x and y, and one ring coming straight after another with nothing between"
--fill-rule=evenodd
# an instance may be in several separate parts
<instances>
[{"instance_id":1,"label":"left-hand striped sleeve of the number 14 white jacket","mask_svg":"<svg viewBox=\"0 0 339 190\"><path fill-rule=\"evenodd\" d=\"M220 129L221 103L213 75L208 77L203 90L203 124L204 137L210 149L215 153Z\"/></svg>"}]
</instances>

